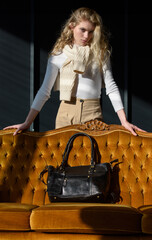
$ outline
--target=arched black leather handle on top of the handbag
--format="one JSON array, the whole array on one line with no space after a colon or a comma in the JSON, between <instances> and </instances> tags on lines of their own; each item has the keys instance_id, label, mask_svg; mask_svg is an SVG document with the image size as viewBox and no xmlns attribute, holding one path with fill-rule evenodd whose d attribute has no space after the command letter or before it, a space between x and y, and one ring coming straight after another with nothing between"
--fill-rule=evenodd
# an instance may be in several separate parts
<instances>
[{"instance_id":1,"label":"arched black leather handle on top of the handbag","mask_svg":"<svg viewBox=\"0 0 152 240\"><path fill-rule=\"evenodd\" d=\"M80 132L80 133L75 133L74 135L72 135L70 137L70 139L69 139L69 141L68 141L68 143L66 145L66 148L64 150L64 153L63 153L63 160L62 160L62 163L60 165L60 169L61 170L64 170L64 167L65 167L65 165L66 165L66 163L68 161L68 156L69 156L69 153L70 153L70 150L71 150L70 148L72 146L72 143L73 143L74 139L76 137L78 137L78 136L86 136L86 137L88 137L90 139L90 142L91 142L91 168L94 168L95 162L94 162L94 145L93 145L93 140L92 140L92 138L88 134Z\"/></svg>"}]
</instances>

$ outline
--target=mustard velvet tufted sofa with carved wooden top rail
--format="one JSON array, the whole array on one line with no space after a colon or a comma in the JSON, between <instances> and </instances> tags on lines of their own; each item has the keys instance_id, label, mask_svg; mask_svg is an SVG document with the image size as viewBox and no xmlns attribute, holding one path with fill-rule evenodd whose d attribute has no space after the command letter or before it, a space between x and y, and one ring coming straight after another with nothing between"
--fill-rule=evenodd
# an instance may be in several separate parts
<instances>
[{"instance_id":1,"label":"mustard velvet tufted sofa with carved wooden top rail","mask_svg":"<svg viewBox=\"0 0 152 240\"><path fill-rule=\"evenodd\" d=\"M152 239L152 133L135 137L99 121L41 133L13 132L0 131L0 240ZM101 162L121 162L117 203L50 203L39 174L46 165L60 165L68 139L77 132L95 139ZM90 154L89 139L80 136L69 164L87 165Z\"/></svg>"}]
</instances>

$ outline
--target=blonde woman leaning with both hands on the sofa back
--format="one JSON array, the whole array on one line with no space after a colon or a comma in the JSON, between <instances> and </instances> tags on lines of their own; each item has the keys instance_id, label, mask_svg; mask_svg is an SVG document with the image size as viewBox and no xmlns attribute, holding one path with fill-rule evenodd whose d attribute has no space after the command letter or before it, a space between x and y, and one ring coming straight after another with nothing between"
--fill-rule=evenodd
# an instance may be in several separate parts
<instances>
[{"instance_id":1,"label":"blonde woman leaning with both hands on the sofa back","mask_svg":"<svg viewBox=\"0 0 152 240\"><path fill-rule=\"evenodd\" d=\"M43 84L25 122L5 129L16 128L14 135L28 129L50 97L53 86L60 90L61 100L56 128L102 119L100 97L103 80L121 124L137 135L135 130L141 129L127 121L112 76L110 50L101 17L92 9L79 8L67 20L49 55Z\"/></svg>"}]
</instances>

